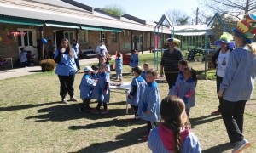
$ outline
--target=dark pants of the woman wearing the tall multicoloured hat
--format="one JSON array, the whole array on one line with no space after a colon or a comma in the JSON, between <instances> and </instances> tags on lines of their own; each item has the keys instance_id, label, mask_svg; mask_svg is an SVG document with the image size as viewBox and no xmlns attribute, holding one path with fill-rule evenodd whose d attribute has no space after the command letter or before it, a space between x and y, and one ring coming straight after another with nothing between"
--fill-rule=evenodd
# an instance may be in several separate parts
<instances>
[{"instance_id":1,"label":"dark pants of the woman wearing the tall multicoloured hat","mask_svg":"<svg viewBox=\"0 0 256 153\"><path fill-rule=\"evenodd\" d=\"M227 129L230 143L236 143L243 139L243 113L246 100L231 102L223 99L220 104L221 116Z\"/></svg>"}]
</instances>

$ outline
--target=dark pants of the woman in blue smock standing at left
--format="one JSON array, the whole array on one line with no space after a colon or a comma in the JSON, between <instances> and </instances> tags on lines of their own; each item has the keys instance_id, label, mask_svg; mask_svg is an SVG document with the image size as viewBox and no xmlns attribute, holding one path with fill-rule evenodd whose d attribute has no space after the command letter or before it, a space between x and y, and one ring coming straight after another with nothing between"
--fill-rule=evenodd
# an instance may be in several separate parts
<instances>
[{"instance_id":1,"label":"dark pants of the woman in blue smock standing at left","mask_svg":"<svg viewBox=\"0 0 256 153\"><path fill-rule=\"evenodd\" d=\"M70 97L73 97L73 82L75 78L75 74L70 76L59 76L59 80L61 82L61 92L60 95L64 99L67 95L67 93L70 95Z\"/></svg>"}]
</instances>

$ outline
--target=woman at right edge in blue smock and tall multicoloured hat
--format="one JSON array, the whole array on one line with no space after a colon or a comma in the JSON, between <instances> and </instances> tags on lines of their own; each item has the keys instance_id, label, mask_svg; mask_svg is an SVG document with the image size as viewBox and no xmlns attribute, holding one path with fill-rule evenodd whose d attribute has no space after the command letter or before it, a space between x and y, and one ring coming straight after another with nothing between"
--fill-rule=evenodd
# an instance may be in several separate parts
<instances>
[{"instance_id":1,"label":"woman at right edge in blue smock and tall multicoloured hat","mask_svg":"<svg viewBox=\"0 0 256 153\"><path fill-rule=\"evenodd\" d=\"M256 47L253 37L256 28L253 23L256 16L248 14L247 19L239 21L236 29L232 29L238 48L230 54L223 82L220 84L218 96L223 97L220 104L230 143L236 143L232 152L241 152L251 144L244 139L243 114L246 102L253 94L256 75Z\"/></svg>"}]
</instances>

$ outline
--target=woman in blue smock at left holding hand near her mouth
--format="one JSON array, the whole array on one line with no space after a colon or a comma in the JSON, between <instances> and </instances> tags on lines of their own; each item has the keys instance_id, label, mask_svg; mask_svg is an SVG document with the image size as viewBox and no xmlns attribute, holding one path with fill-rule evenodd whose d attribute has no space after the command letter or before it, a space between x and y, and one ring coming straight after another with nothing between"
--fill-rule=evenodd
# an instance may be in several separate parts
<instances>
[{"instance_id":1,"label":"woman in blue smock at left holding hand near her mouth","mask_svg":"<svg viewBox=\"0 0 256 153\"><path fill-rule=\"evenodd\" d=\"M70 95L71 101L78 101L73 97L73 82L75 73L80 69L80 66L78 56L66 38L62 39L61 48L55 51L55 62L57 63L55 74L58 75L61 82L61 102L67 103L67 99L65 99L67 93Z\"/></svg>"}]
</instances>

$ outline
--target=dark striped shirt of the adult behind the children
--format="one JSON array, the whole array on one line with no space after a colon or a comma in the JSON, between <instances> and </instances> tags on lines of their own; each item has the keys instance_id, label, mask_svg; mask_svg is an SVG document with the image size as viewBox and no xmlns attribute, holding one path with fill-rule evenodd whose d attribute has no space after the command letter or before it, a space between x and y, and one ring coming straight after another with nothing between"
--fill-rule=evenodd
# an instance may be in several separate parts
<instances>
[{"instance_id":1,"label":"dark striped shirt of the adult behind the children","mask_svg":"<svg viewBox=\"0 0 256 153\"><path fill-rule=\"evenodd\" d=\"M166 50L161 59L161 65L164 66L165 73L172 73L179 71L178 61L183 59L182 51L176 48L172 53Z\"/></svg>"}]
</instances>

